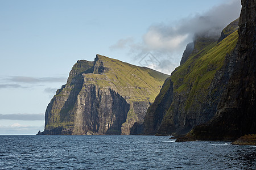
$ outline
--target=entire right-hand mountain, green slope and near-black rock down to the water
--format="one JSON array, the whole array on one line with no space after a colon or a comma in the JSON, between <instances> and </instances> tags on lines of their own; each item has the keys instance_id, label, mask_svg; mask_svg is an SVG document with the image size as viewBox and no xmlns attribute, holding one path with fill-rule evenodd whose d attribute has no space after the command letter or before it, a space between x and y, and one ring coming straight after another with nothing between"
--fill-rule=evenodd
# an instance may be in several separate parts
<instances>
[{"instance_id":1,"label":"entire right-hand mountain, green slope and near-black rock down to the water","mask_svg":"<svg viewBox=\"0 0 256 170\"><path fill-rule=\"evenodd\" d=\"M256 133L256 3L241 3L239 22L224 28L218 41L196 54L189 46L185 50L170 83L148 108L143 134L174 135L176 142L234 141L244 135L234 143L255 145L255 135L248 134Z\"/></svg>"}]
</instances>

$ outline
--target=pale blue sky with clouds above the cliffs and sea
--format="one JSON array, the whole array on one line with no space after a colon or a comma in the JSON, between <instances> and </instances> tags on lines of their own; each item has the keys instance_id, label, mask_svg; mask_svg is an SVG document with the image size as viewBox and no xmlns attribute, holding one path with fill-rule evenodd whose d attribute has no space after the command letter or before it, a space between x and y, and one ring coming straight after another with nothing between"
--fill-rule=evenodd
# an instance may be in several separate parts
<instances>
[{"instance_id":1,"label":"pale blue sky with clouds above the cliffs and sea","mask_svg":"<svg viewBox=\"0 0 256 170\"><path fill-rule=\"evenodd\" d=\"M101 54L171 74L195 33L220 35L240 10L238 0L0 0L0 135L43 131L77 60Z\"/></svg>"}]
</instances>

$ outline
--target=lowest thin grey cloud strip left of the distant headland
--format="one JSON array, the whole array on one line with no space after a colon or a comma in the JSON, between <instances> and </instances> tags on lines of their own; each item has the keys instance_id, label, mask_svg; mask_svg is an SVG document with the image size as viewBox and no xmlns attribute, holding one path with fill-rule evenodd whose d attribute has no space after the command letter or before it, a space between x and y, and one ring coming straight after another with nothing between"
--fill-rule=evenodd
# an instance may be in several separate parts
<instances>
[{"instance_id":1,"label":"lowest thin grey cloud strip left of the distant headland","mask_svg":"<svg viewBox=\"0 0 256 170\"><path fill-rule=\"evenodd\" d=\"M27 113L18 113L18 114L0 114L0 120L44 120L44 113L39 114L27 114Z\"/></svg>"}]
</instances>

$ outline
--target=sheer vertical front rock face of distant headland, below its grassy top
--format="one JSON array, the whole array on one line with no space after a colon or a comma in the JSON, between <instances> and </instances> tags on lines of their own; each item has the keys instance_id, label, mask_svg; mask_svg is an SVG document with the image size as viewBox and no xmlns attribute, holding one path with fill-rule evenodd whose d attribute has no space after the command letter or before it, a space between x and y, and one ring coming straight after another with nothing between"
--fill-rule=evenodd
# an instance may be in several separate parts
<instances>
[{"instance_id":1,"label":"sheer vertical front rock face of distant headland, below its grassy top","mask_svg":"<svg viewBox=\"0 0 256 170\"><path fill-rule=\"evenodd\" d=\"M111 88L90 84L80 91L75 108L72 134L121 134L129 104Z\"/></svg>"}]
</instances>

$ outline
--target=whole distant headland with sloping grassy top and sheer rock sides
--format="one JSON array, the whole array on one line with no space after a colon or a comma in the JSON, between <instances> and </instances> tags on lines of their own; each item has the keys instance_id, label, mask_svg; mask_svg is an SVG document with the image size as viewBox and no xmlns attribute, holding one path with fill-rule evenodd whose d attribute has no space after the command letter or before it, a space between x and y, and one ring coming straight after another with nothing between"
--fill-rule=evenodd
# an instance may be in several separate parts
<instances>
[{"instance_id":1,"label":"whole distant headland with sloping grassy top and sheer rock sides","mask_svg":"<svg viewBox=\"0 0 256 170\"><path fill-rule=\"evenodd\" d=\"M39 135L130 134L168 75L97 55L77 61L48 104Z\"/></svg>"}]
</instances>

